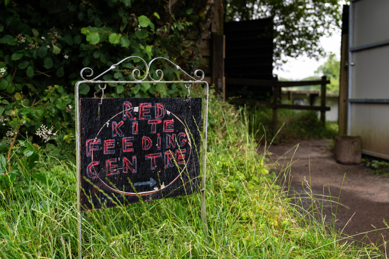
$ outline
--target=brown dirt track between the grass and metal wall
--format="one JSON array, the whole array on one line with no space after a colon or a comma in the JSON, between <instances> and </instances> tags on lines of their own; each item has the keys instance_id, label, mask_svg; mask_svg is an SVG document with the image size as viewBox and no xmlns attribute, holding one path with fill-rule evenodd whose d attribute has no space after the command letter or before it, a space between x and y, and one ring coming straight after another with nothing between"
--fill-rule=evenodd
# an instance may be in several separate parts
<instances>
[{"instance_id":1,"label":"brown dirt track between the grass and metal wall","mask_svg":"<svg viewBox=\"0 0 389 259\"><path fill-rule=\"evenodd\" d=\"M298 143L300 145L294 157L294 149L286 153ZM340 188L342 188L339 202L348 208L338 206L336 214L338 220L335 222L335 228L342 229L351 218L343 233L349 236L356 235L355 240L376 243L377 233L375 231L368 233L367 236L360 233L374 230L373 226L377 229L385 228L383 219L389 223L389 177L372 176L364 165L336 163L335 156L329 148L330 144L331 140L293 141L290 144L272 145L268 151L271 152L271 160L275 161L280 158L278 162L284 165L290 163L293 157L290 170L290 195L293 189L297 193L305 194L308 189L306 187L304 187L305 190L303 189L304 177L308 182L310 179L312 192L316 194L322 195L324 186L324 195L328 195L329 186L331 196L338 197ZM277 173L280 169L281 165L277 167ZM289 178L289 175L287 177ZM329 205L329 203L324 205L326 204ZM332 221L330 206L325 207L323 214L329 224ZM378 231L380 244L383 243L381 234L385 241L389 241L389 229ZM389 249L386 250L389 253Z\"/></svg>"}]
</instances>

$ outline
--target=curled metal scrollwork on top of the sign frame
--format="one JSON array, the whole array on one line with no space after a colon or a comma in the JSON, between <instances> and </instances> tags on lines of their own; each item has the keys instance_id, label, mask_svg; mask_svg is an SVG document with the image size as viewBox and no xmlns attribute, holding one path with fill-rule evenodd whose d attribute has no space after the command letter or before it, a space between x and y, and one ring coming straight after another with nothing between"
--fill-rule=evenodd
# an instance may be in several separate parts
<instances>
[{"instance_id":1,"label":"curled metal scrollwork on top of the sign frame","mask_svg":"<svg viewBox=\"0 0 389 259\"><path fill-rule=\"evenodd\" d=\"M145 71L145 76L142 78L142 79L138 79L140 77L140 70L138 68L135 68L134 70L132 70L131 72L131 77L133 79L134 82L142 82L144 81L147 76L149 76L149 79L151 79L151 81L154 81L154 82L160 82L162 79L163 79L163 71L160 70L160 69L157 69L155 71L155 75L158 79L154 79L152 78L151 74L150 74L150 66L151 66L151 63L157 59L164 59L166 61L168 61L170 64L172 64L173 66L175 66L175 68L179 71L182 71L186 76L188 76L189 78L191 78L193 81L202 81L204 79L204 72L202 70L196 70L194 72L194 75L195 77L199 78L199 79L195 79L193 76L189 75L188 73L186 73L184 70L182 70L182 68L180 68L180 66L177 66L176 64L174 64L172 61L170 61L169 59L165 58L165 57L156 57L154 59L152 59L149 64L146 63L146 61L144 61L144 59L142 59L141 57L138 57L138 56L130 56L130 57L126 57L125 59L122 59L121 61L119 61L118 63L116 64L113 64L112 66L110 66L109 69L105 70L103 73L101 73L100 75L92 78L92 79L87 79L86 77L92 77L93 76L93 70L91 68L83 68L80 72L80 75L81 75L81 78L85 81L95 81L97 78L99 78L100 76L104 75L105 73L107 73L108 71L116 68L116 66L118 66L119 64L123 63L124 61L126 61L127 59L130 59L130 58L138 58L140 59L144 64L145 64L145 68L146 68L146 71ZM90 75L83 75L82 73L85 71L85 70L90 70ZM137 76L135 76L135 73L137 73ZM147 80L146 80L147 81Z\"/></svg>"}]
</instances>

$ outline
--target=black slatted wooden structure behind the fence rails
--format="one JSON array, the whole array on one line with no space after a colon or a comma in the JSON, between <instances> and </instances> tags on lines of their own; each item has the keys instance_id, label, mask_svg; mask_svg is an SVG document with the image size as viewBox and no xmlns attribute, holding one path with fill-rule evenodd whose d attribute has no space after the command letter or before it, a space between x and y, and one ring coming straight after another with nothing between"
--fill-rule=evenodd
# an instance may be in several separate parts
<instances>
[{"instance_id":1,"label":"black slatted wooden structure behind the fence rails","mask_svg":"<svg viewBox=\"0 0 389 259\"><path fill-rule=\"evenodd\" d=\"M224 24L226 35L226 96L269 101L272 88L235 84L236 79L273 80L273 21L271 18Z\"/></svg>"}]
</instances>

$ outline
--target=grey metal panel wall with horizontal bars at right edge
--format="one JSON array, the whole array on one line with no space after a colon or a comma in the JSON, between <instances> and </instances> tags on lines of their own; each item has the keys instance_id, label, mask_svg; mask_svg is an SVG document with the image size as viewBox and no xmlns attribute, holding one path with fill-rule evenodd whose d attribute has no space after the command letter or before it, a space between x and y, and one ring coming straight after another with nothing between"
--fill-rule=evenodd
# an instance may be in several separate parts
<instances>
[{"instance_id":1,"label":"grey metal panel wall with horizontal bars at right edge","mask_svg":"<svg viewBox=\"0 0 389 259\"><path fill-rule=\"evenodd\" d=\"M354 0L349 20L347 134L389 159L389 1Z\"/></svg>"}]
</instances>

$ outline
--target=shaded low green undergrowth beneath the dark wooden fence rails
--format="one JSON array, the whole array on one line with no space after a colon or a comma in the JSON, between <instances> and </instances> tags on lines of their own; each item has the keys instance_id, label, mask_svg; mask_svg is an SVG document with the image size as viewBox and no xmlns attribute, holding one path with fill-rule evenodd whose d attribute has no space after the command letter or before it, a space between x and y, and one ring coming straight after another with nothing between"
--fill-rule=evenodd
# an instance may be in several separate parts
<instances>
[{"instance_id":1,"label":"shaded low green undergrowth beneath the dark wooden fence rails","mask_svg":"<svg viewBox=\"0 0 389 259\"><path fill-rule=\"evenodd\" d=\"M265 132L273 132L272 109L249 108L248 111L256 119L254 125L261 125L261 130L256 136L258 139L264 130ZM282 129L274 139L276 143L290 142L292 139L334 139L338 134L338 124L326 122L323 125L316 111L278 109L277 118L276 129L281 127Z\"/></svg>"}]
</instances>

